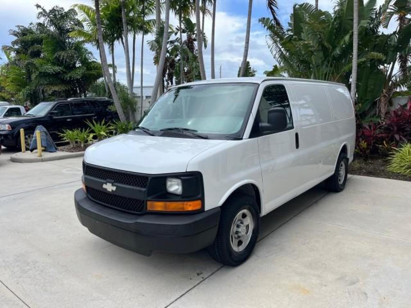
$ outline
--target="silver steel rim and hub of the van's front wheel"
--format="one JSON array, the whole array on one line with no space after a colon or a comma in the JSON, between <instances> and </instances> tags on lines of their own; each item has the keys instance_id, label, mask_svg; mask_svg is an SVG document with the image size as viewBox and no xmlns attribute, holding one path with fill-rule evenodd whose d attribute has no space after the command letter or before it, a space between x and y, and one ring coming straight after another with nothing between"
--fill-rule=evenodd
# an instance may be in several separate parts
<instances>
[{"instance_id":1,"label":"silver steel rim and hub of the van's front wheel","mask_svg":"<svg viewBox=\"0 0 411 308\"><path fill-rule=\"evenodd\" d=\"M254 230L254 219L248 209L241 210L234 218L231 225L230 244L236 252L243 251L252 236Z\"/></svg>"}]
</instances>

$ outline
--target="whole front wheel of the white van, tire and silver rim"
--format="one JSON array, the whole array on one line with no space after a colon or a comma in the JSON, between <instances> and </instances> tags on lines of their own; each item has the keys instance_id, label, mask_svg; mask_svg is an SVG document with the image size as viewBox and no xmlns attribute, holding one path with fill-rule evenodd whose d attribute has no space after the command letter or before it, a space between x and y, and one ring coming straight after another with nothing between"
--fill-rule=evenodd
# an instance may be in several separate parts
<instances>
[{"instance_id":1,"label":"whole front wheel of the white van, tire and silver rim","mask_svg":"<svg viewBox=\"0 0 411 308\"><path fill-rule=\"evenodd\" d=\"M260 216L254 198L235 195L222 207L217 237L210 255L224 265L236 266L247 260L257 242Z\"/></svg>"}]
</instances>

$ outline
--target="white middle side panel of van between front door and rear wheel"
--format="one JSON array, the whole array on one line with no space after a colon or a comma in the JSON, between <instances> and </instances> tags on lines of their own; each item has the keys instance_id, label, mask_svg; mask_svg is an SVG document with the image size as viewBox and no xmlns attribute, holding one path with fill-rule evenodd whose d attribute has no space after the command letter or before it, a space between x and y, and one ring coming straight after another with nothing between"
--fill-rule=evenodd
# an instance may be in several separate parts
<instances>
[{"instance_id":1,"label":"white middle side panel of van between front door and rear wheel","mask_svg":"<svg viewBox=\"0 0 411 308\"><path fill-rule=\"evenodd\" d=\"M338 132L332 120L326 87L315 83L293 83L292 87L298 109L302 152L300 174L304 183L316 182L334 170Z\"/></svg>"}]
</instances>

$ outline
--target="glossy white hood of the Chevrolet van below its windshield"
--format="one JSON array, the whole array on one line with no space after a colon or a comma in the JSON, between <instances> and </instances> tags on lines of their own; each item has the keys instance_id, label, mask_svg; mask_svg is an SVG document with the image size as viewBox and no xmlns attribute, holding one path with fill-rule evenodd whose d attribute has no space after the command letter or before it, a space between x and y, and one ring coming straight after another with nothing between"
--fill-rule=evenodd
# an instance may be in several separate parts
<instances>
[{"instance_id":1,"label":"glossy white hood of the Chevrolet van below its windshield","mask_svg":"<svg viewBox=\"0 0 411 308\"><path fill-rule=\"evenodd\" d=\"M226 140L122 134L89 147L86 163L145 174L185 172L196 155Z\"/></svg>"}]
</instances>

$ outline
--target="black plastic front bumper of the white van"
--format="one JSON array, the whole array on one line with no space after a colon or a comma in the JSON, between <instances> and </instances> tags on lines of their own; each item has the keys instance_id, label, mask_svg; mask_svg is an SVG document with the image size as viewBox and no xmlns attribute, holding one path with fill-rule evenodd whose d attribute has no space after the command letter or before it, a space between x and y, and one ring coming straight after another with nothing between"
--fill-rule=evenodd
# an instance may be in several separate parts
<instances>
[{"instance_id":1,"label":"black plastic front bumper of the white van","mask_svg":"<svg viewBox=\"0 0 411 308\"><path fill-rule=\"evenodd\" d=\"M88 230L117 246L143 255L152 251L192 253L209 246L217 234L220 208L192 215L136 215L74 194L77 217Z\"/></svg>"}]
</instances>

